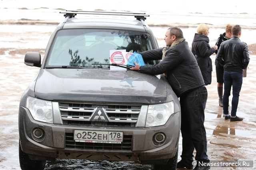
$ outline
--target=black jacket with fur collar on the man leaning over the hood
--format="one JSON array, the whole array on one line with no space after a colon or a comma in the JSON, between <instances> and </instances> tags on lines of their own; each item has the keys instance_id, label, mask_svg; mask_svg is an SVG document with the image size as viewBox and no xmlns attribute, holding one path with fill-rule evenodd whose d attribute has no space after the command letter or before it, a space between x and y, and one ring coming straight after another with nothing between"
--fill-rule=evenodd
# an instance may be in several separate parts
<instances>
[{"instance_id":1,"label":"black jacket with fur collar on the man leaning over the hood","mask_svg":"<svg viewBox=\"0 0 256 170\"><path fill-rule=\"evenodd\" d=\"M158 64L140 66L140 72L154 75L166 73L172 89L180 97L189 90L204 86L204 79L188 43L184 39L176 40L171 47L167 47L164 56L163 49L140 53L144 61L161 60L164 57Z\"/></svg>"}]
</instances>

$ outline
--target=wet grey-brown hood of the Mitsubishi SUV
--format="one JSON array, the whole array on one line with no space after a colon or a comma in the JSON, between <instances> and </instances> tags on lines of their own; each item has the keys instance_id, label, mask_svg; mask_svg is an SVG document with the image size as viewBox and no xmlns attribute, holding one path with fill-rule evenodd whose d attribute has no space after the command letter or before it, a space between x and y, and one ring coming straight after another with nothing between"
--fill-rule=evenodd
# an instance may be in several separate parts
<instances>
[{"instance_id":1,"label":"wet grey-brown hood of the Mitsubishi SUV","mask_svg":"<svg viewBox=\"0 0 256 170\"><path fill-rule=\"evenodd\" d=\"M54 68L40 69L35 97L97 103L166 102L166 79L140 72Z\"/></svg>"}]
</instances>

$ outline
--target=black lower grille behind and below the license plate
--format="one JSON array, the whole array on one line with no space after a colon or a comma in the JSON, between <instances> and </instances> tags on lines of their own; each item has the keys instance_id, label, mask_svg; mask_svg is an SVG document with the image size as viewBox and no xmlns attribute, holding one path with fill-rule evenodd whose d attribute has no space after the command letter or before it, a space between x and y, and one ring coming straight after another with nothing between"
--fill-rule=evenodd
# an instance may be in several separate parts
<instances>
[{"instance_id":1,"label":"black lower grille behind and below the license plate","mask_svg":"<svg viewBox=\"0 0 256 170\"><path fill-rule=\"evenodd\" d=\"M121 144L116 143L85 143L74 141L74 133L66 133L66 149L82 150L132 150L132 135L124 135Z\"/></svg>"}]
</instances>

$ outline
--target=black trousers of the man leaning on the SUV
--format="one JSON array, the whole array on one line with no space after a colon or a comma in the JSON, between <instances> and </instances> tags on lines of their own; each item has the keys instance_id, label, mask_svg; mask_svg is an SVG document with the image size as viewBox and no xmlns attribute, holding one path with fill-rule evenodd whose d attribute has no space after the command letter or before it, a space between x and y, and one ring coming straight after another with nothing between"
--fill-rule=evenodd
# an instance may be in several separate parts
<instances>
[{"instance_id":1,"label":"black trousers of the man leaning on the SUV","mask_svg":"<svg viewBox=\"0 0 256 170\"><path fill-rule=\"evenodd\" d=\"M200 162L210 162L207 152L206 131L204 128L204 109L208 97L205 86L190 90L180 96L182 162L192 164L193 152Z\"/></svg>"}]
</instances>

